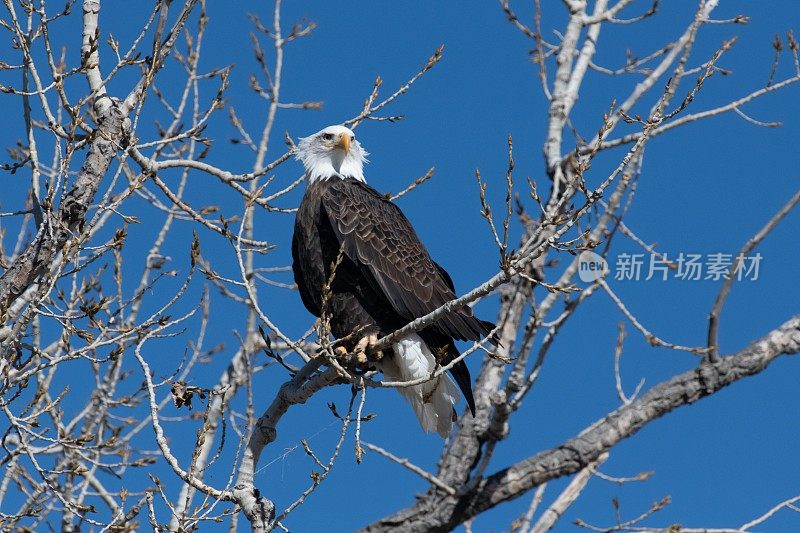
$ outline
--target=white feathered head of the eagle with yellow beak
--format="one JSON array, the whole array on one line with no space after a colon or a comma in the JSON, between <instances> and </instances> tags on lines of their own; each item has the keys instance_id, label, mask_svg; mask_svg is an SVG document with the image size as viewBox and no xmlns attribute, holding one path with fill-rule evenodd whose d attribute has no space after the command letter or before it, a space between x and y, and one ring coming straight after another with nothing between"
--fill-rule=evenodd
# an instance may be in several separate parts
<instances>
[{"instance_id":1,"label":"white feathered head of the eagle with yellow beak","mask_svg":"<svg viewBox=\"0 0 800 533\"><path fill-rule=\"evenodd\" d=\"M297 145L297 159L303 162L308 180L355 178L364 180L366 150L356 134L344 126L328 126L314 135L303 137Z\"/></svg>"}]
</instances>

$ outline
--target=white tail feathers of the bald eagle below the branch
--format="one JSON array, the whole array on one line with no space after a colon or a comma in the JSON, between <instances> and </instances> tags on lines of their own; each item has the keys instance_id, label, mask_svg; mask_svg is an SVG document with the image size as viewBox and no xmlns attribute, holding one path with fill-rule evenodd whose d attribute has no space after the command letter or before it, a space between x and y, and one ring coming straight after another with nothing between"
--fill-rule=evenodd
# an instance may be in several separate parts
<instances>
[{"instance_id":1,"label":"white tail feathers of the bald eagle below the branch","mask_svg":"<svg viewBox=\"0 0 800 533\"><path fill-rule=\"evenodd\" d=\"M430 348L416 333L400 339L394 345L395 357L385 357L378 369L387 380L410 381L430 376L436 369L436 359ZM458 388L450 376L412 387L397 389L411 403L425 431L436 431L442 438L450 434L453 425L453 406L458 400Z\"/></svg>"}]
</instances>

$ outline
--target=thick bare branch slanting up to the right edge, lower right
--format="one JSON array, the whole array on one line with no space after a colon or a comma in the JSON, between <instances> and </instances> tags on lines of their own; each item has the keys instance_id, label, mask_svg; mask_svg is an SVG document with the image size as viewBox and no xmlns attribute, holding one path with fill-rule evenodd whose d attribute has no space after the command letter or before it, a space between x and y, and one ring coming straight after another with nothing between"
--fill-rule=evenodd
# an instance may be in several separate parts
<instances>
[{"instance_id":1,"label":"thick bare branch slanting up to the right edge, lower right","mask_svg":"<svg viewBox=\"0 0 800 533\"><path fill-rule=\"evenodd\" d=\"M715 364L704 363L656 385L640 399L592 424L577 437L500 470L457 497L428 492L417 504L363 531L449 531L542 483L580 471L653 420L762 372L781 355L798 352L800 316L736 354L723 357Z\"/></svg>"}]
</instances>

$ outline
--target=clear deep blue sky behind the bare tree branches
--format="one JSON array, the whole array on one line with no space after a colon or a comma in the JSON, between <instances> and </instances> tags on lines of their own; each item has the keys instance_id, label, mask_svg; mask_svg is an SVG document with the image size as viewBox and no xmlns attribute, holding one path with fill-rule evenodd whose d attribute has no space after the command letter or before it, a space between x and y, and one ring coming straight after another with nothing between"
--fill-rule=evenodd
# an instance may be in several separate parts
<instances>
[{"instance_id":1,"label":"clear deep blue sky behind the bare tree branches","mask_svg":"<svg viewBox=\"0 0 800 533\"><path fill-rule=\"evenodd\" d=\"M551 29L563 29L564 9L560 2L543 3L547 4L544 34L553 41ZM708 80L688 112L727 103L762 87L771 68L774 35L785 35L793 28L800 30L800 8L794 0L721 3L715 11L716 18L743 13L751 17L751 23L702 29L692 66L705 61L723 40L737 35L739 41L719 63L732 73ZM528 3L517 4L515 9L520 16L531 22ZM642 5L636 7L637 4ZM645 4L649 5L635 2L628 13L646 9ZM658 16L651 20L634 26L606 27L598 43L596 61L620 67L626 49L643 56L675 39L691 19L697 2L662 4ZM245 14L258 13L267 23L271 21L271 7L266 3L210 2L208 8L211 23L202 65L208 70L235 63L227 101L257 135L266 106L247 88L248 76L257 72L257 66L250 53L247 33L251 26ZM131 29L144 16L134 7L115 5L105 9L101 40L109 30L119 39L130 39ZM376 75L382 76L383 93L388 94L416 72L437 46L444 44L443 61L386 110L406 119L395 124L366 123L357 132L372 154L367 180L379 190L399 191L436 166L434 179L403 198L400 205L432 255L452 274L457 289L463 292L490 277L495 272L497 256L485 221L479 216L475 169L480 168L489 182L490 196L499 210L504 194L506 136L512 134L519 182L531 176L546 183L542 144L547 103L541 94L537 67L528 54L533 43L506 22L495 2L466 1L457 6L416 1L286 2L285 26L302 17L315 21L318 28L312 36L288 47L283 98L292 102L323 100L324 108L281 111L270 156L282 153L283 130L296 138L352 117L360 110ZM77 43L73 40L70 45L76 47ZM74 59L77 48L70 53ZM108 54L108 50L104 53ZM173 68L160 82L168 95L176 90L177 85L170 86L170 76L176 74ZM790 57L784 52L776 80L791 75ZM174 79L177 83L180 78ZM624 99L636 81L634 77L610 79L590 72L571 116L574 125L584 136L591 136L610 102ZM690 84L687 81L679 94ZM125 79L120 79L116 87L122 92ZM215 89L206 90L211 96ZM783 122L781 128L758 128L728 114L654 139L647 147L644 171L627 224L645 241L657 242L659 250L671 258L681 252L736 253L800 187L798 91L798 86L792 86L744 109L758 120ZM11 99L4 98L3 105L8 107ZM645 114L651 103L652 98L635 111ZM623 131L633 130L621 127L616 133ZM252 157L246 148L226 143L235 131L225 113L219 113L212 121L208 134L216 139L210 162L232 172L250 170ZM140 134L141 138L144 136ZM3 136L4 140L7 138ZM598 157L587 175L588 181L599 183L623 154L616 150ZM289 162L278 169L277 182L289 183L300 171L299 163ZM24 177L6 179L27 186ZM198 174L190 181L189 199L194 204L220 204L226 215L240 212L235 195L220 194L213 178ZM520 191L524 194L524 188ZM298 195L287 198L285 205L298 199ZM134 205L132 209L140 209L140 218L145 222L130 230L133 238L127 249L129 257L146 251L161 222L161 215L154 216L152 209L148 211L141 203ZM528 207L534 210L534 206ZM262 266L289 264L292 219L290 215L258 215L256 238L278 245L262 260ZM170 255L176 268L185 268L191 229L184 223L170 237ZM797 313L799 230L800 213L793 213L759 248L763 256L759 279L734 287L721 322L723 352L739 350ZM235 276L230 246L208 234L201 233L201 241L204 255L218 261L224 275ZM612 257L620 252L639 253L640 249L620 236ZM557 271L556 268L549 274L555 276ZM131 280L138 282L138 274ZM289 276L282 281L290 281ZM202 280L195 281L193 301L199 297L202 285ZM612 286L628 308L660 337L693 346L705 342L706 316L719 282L669 279L619 281ZM225 349L207 367L195 372L193 384L201 387L216 382L226 358L236 350L233 331L245 328L242 310L212 292L214 327L207 345L225 343ZM259 295L264 309L291 335L301 334L312 323L295 293L262 287ZM496 301L482 302L478 309L484 318L494 319ZM612 361L616 324L622 320L624 317L603 294L584 304L551 349L536 390L513 421L511 436L499 446L489 472L563 442L617 406ZM647 388L696 364L694 356L650 347L630 324L626 326L629 335L622 374L628 392L640 379L646 380ZM190 338L168 344L172 349L151 347L146 355L153 360L157 372L171 373ZM477 359L469 361L473 373L478 364ZM258 412L268 405L285 378L285 372L277 367L258 376L254 383ZM138 385L139 376L132 381ZM670 495L672 504L647 522L652 526L681 523L687 527L734 527L778 501L800 494L800 466L796 461L800 440L798 383L797 360L780 360L763 375L736 383L649 425L614 448L602 470L614 476L653 470L654 477L646 483L625 486L592 480L557 530L572 530L571 521L578 517L596 525L612 525L613 497L621 502L623 518L629 519ZM338 423L325 404L334 401L341 410L348 399L348 387L328 390L306 406L294 408L282 420L278 440L265 452L256 478L259 487L276 500L279 510L293 501L309 481L313 464L302 448L296 447L299 439L308 439L325 456L338 435ZM413 413L395 392L370 391L366 410L378 416L364 425L365 440L422 467L435 468L441 439L419 430ZM166 414L175 413L170 408ZM175 425L168 425L167 431L178 449L181 432L192 438L194 435L194 429L181 430ZM150 438L149 433L145 436ZM287 521L292 531L351 530L410 505L414 493L424 490L423 480L376 454L368 454L364 464L356 465L352 444L352 439L348 440L329 479ZM184 454L182 460L186 459ZM162 479L171 477L164 465L156 470ZM219 486L226 477L225 469L215 467L209 480ZM545 505L566 481L548 486ZM525 497L486 513L475 521L474 530L508 530L511 521L524 513L528 501ZM797 529L798 523L796 514L784 511L759 530L787 531ZM212 530L210 526L203 529Z\"/></svg>"}]
</instances>

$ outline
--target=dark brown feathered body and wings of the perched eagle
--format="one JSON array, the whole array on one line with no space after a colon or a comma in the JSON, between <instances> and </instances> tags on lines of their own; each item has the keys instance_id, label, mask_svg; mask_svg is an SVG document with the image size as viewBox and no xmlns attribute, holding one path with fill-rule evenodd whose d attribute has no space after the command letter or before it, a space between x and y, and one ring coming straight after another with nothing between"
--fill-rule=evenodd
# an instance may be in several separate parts
<instances>
[{"instance_id":1,"label":"dark brown feathered body and wings of the perched eagle","mask_svg":"<svg viewBox=\"0 0 800 533\"><path fill-rule=\"evenodd\" d=\"M395 204L357 179L314 180L297 212L292 268L303 303L315 316L322 314L322 290L340 249L327 305L334 336L359 332L350 347L366 334L389 334L455 298L450 276ZM493 327L464 307L419 336L437 361L447 364L459 355L454 340L476 341ZM459 362L451 372L474 413L467 366Z\"/></svg>"}]
</instances>

